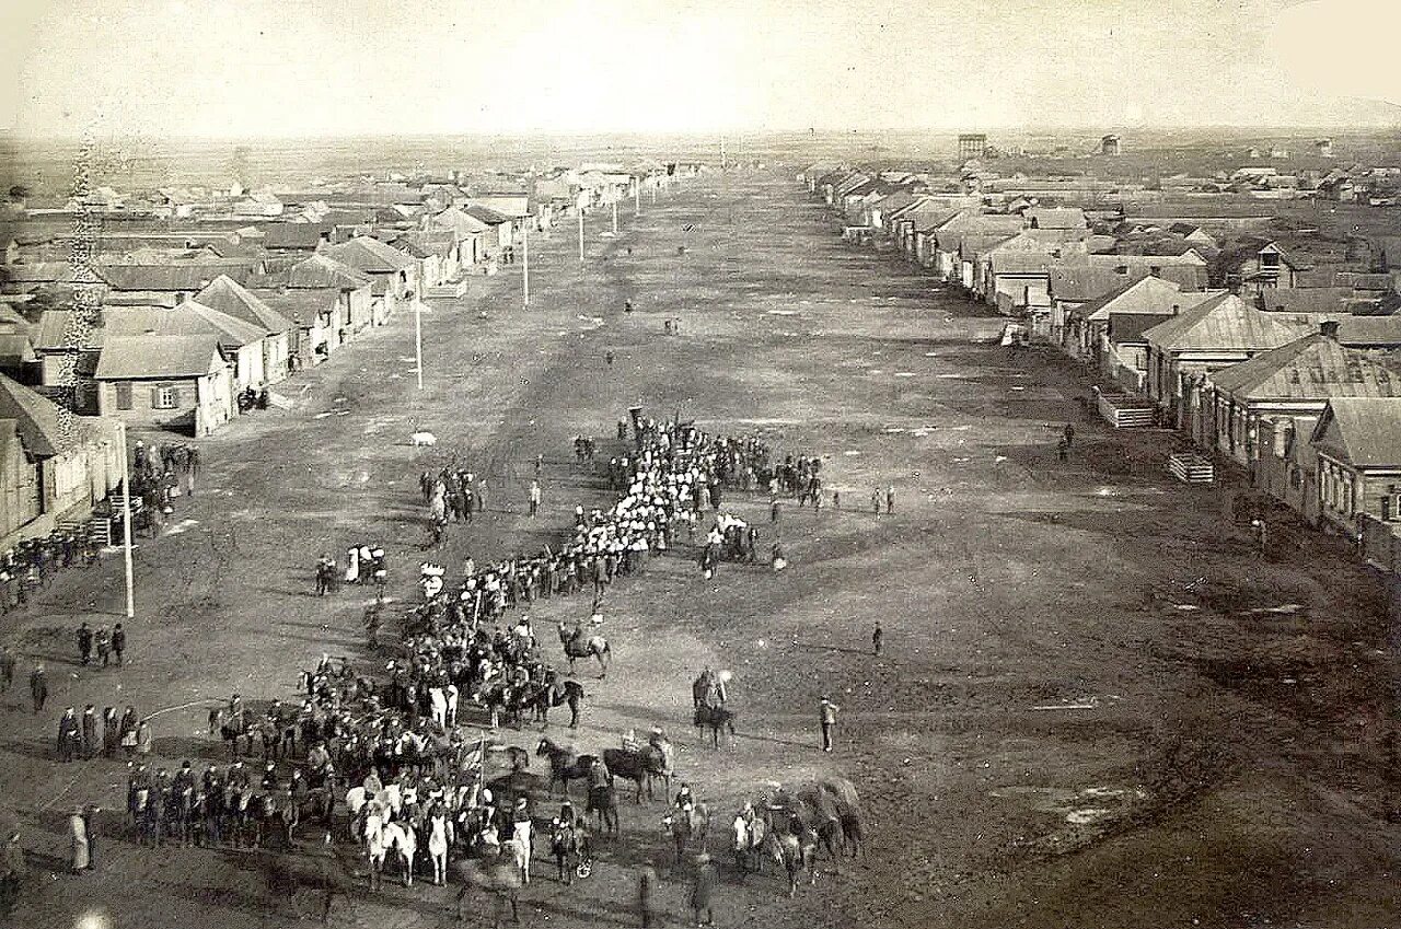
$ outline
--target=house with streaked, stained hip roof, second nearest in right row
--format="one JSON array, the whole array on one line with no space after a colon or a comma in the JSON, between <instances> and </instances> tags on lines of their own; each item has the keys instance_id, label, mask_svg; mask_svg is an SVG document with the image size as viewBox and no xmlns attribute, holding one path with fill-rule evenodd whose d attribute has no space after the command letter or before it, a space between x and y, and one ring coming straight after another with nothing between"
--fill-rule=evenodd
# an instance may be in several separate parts
<instances>
[{"instance_id":1,"label":"house with streaked, stained hip roof, second nearest in right row","mask_svg":"<svg viewBox=\"0 0 1401 929\"><path fill-rule=\"evenodd\" d=\"M1262 419L1317 419L1335 397L1401 397L1401 373L1338 342L1338 322L1271 352L1208 376L1202 392L1202 439L1223 455L1254 468Z\"/></svg>"}]
</instances>

